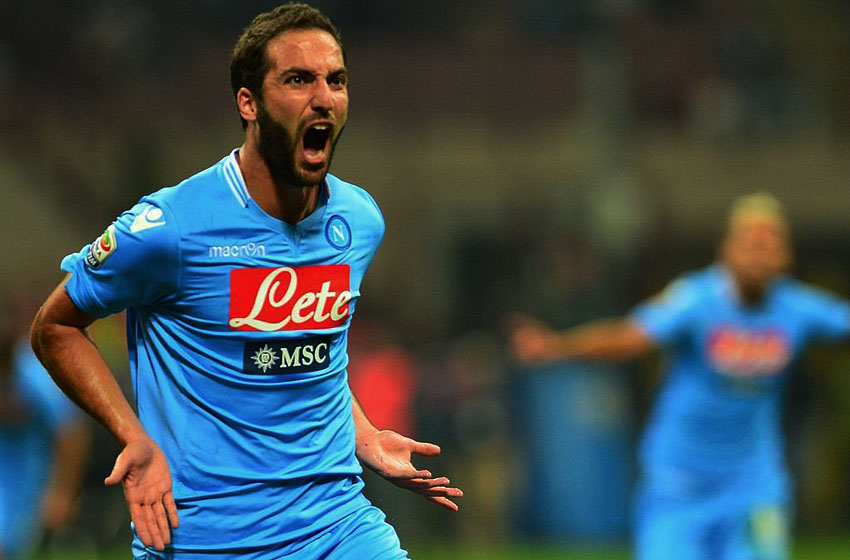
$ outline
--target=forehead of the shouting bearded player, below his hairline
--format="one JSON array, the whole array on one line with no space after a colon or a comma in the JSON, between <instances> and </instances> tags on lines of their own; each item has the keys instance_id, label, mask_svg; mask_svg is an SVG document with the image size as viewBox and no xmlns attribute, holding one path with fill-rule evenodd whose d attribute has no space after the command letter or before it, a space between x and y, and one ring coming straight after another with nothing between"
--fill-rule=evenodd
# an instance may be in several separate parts
<instances>
[{"instance_id":1,"label":"forehead of the shouting bearded player, below his hairline","mask_svg":"<svg viewBox=\"0 0 850 560\"><path fill-rule=\"evenodd\" d=\"M272 72L291 67L317 71L345 67L336 39L321 29L284 31L269 41L266 49Z\"/></svg>"}]
</instances>

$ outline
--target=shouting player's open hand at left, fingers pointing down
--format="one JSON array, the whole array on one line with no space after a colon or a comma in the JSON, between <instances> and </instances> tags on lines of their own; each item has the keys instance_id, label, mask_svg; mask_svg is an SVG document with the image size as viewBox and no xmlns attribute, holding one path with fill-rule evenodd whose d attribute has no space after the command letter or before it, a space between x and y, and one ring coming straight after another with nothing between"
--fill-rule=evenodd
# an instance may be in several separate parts
<instances>
[{"instance_id":1,"label":"shouting player's open hand at left, fingers pointing down","mask_svg":"<svg viewBox=\"0 0 850 560\"><path fill-rule=\"evenodd\" d=\"M104 481L107 486L124 487L124 498L130 519L145 546L162 550L171 543L171 527L177 528L177 506L171 495L171 471L159 446L150 438L128 443L112 473Z\"/></svg>"}]
</instances>

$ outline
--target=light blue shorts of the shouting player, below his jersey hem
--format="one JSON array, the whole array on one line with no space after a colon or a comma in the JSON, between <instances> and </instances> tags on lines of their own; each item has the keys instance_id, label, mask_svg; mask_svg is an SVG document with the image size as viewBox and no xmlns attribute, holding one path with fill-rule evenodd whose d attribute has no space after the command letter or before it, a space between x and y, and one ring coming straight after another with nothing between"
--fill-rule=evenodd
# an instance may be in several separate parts
<instances>
[{"instance_id":1,"label":"light blue shorts of the shouting player, below his jersey hem","mask_svg":"<svg viewBox=\"0 0 850 560\"><path fill-rule=\"evenodd\" d=\"M384 513L374 506L366 506L343 517L326 530L298 543L286 543L286 552L279 548L263 550L222 550L218 554L192 553L166 548L160 552L142 545L139 537L133 539L135 560L407 560L395 529L384 519Z\"/></svg>"}]
</instances>

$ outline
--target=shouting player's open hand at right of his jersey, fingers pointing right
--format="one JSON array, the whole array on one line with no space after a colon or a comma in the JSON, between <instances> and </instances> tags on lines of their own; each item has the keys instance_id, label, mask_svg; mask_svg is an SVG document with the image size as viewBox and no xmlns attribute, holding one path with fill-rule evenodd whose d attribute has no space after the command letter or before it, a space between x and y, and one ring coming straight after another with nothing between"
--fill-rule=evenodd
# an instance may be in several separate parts
<instances>
[{"instance_id":1,"label":"shouting player's open hand at right of his jersey, fingers pointing right","mask_svg":"<svg viewBox=\"0 0 850 560\"><path fill-rule=\"evenodd\" d=\"M375 430L357 438L357 457L364 465L400 488L420 494L450 511L457 511L457 504L451 498L463 497L463 491L448 486L449 479L444 476L435 478L430 471L417 470L410 462L413 453L435 457L440 454L440 448L390 430Z\"/></svg>"}]
</instances>

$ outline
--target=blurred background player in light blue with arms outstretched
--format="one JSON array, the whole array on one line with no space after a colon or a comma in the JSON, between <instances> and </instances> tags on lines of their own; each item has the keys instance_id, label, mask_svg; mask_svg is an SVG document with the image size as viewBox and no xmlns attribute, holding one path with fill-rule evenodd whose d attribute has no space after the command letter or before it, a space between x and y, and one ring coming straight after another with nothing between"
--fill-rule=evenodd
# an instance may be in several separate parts
<instances>
[{"instance_id":1,"label":"blurred background player in light blue with arms outstretched","mask_svg":"<svg viewBox=\"0 0 850 560\"><path fill-rule=\"evenodd\" d=\"M720 262L628 317L562 332L529 318L514 325L525 363L669 352L640 450L638 558L787 558L782 388L810 342L850 336L850 303L787 276L790 262L779 203L748 195L733 205Z\"/></svg>"}]
</instances>

